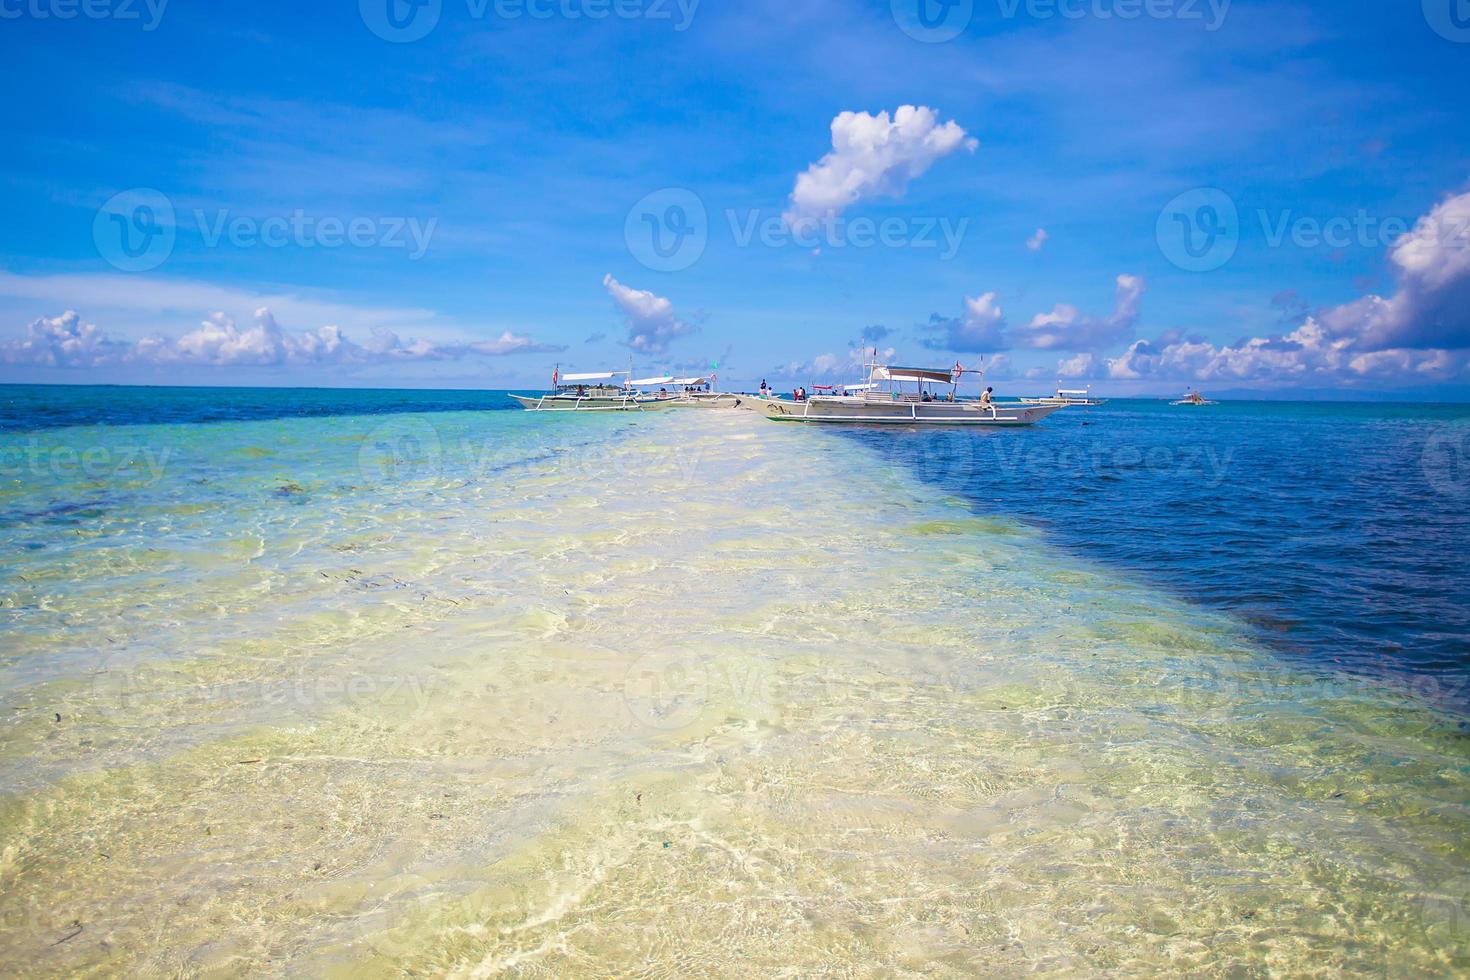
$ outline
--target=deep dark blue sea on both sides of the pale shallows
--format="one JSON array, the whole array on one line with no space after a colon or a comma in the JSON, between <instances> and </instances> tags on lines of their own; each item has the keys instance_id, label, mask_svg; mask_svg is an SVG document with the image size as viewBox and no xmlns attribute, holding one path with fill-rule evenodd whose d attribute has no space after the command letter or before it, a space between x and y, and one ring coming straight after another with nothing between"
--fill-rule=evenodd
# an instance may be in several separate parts
<instances>
[{"instance_id":1,"label":"deep dark blue sea on both sides of the pale shallows","mask_svg":"<svg viewBox=\"0 0 1470 980\"><path fill-rule=\"evenodd\" d=\"M0 432L512 407L497 391L10 385ZM1025 430L822 432L1225 610L1285 657L1470 701L1470 406L1113 401Z\"/></svg>"}]
</instances>

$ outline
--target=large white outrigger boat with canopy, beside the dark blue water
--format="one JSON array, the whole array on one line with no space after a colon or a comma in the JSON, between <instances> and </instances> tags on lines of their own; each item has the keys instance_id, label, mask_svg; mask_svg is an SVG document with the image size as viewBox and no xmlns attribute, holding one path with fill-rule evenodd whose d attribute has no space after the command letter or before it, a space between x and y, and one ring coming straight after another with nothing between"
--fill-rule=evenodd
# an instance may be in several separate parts
<instances>
[{"instance_id":1,"label":"large white outrigger boat with canopy, beside the dark blue water","mask_svg":"<svg viewBox=\"0 0 1470 980\"><path fill-rule=\"evenodd\" d=\"M1041 422L1063 406L1025 406L960 398L961 375L982 375L956 364L954 370L869 364L867 381L844 385L833 394L797 398L748 398L741 407L776 422L866 422L879 425L1025 426ZM906 385L913 385L907 389ZM935 394L935 385L948 392ZM839 394L838 394L839 392Z\"/></svg>"}]
</instances>

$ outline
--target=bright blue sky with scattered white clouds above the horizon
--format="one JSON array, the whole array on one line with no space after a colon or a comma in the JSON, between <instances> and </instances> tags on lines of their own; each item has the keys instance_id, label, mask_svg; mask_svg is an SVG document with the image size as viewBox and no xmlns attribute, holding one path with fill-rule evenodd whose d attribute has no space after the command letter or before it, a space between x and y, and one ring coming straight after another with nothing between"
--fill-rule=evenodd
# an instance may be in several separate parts
<instances>
[{"instance_id":1,"label":"bright blue sky with scattered white clouds above the horizon","mask_svg":"<svg viewBox=\"0 0 1470 980\"><path fill-rule=\"evenodd\" d=\"M1466 0L919 1L0 0L0 379L1467 391Z\"/></svg>"}]
</instances>

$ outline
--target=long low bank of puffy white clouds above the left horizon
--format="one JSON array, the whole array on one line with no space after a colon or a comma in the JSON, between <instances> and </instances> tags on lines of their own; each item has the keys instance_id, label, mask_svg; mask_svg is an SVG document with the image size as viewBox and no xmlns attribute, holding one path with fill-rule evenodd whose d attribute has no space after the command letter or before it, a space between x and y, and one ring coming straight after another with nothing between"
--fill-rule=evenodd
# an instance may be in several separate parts
<instances>
[{"instance_id":1,"label":"long low bank of puffy white clouds above the left horizon","mask_svg":"<svg viewBox=\"0 0 1470 980\"><path fill-rule=\"evenodd\" d=\"M550 353L562 347L537 344L506 331L494 341L435 344L401 341L387 328L375 328L366 344L348 339L335 325L315 331L287 331L266 307L254 322L240 328L225 313L210 313L197 328L178 338L159 334L137 341L113 339L104 331L82 323L75 311L38 319L25 339L0 341L0 363L32 367L98 367L103 364L198 364L209 367L301 367L323 364L372 364L395 360L457 360L479 354Z\"/></svg>"}]
</instances>

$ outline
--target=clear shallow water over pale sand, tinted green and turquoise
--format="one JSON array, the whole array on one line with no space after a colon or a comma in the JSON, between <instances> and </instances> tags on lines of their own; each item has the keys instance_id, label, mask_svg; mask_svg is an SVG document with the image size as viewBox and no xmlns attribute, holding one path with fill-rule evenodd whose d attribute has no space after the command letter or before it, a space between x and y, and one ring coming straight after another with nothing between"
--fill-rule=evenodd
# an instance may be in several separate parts
<instances>
[{"instance_id":1,"label":"clear shallow water over pale sand, tinted green and turquoise","mask_svg":"<svg viewBox=\"0 0 1470 980\"><path fill-rule=\"evenodd\" d=\"M4 489L18 971L1470 967L1454 718L851 441L43 438L115 455Z\"/></svg>"}]
</instances>

